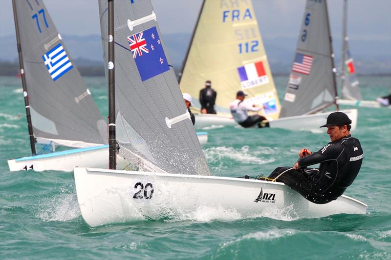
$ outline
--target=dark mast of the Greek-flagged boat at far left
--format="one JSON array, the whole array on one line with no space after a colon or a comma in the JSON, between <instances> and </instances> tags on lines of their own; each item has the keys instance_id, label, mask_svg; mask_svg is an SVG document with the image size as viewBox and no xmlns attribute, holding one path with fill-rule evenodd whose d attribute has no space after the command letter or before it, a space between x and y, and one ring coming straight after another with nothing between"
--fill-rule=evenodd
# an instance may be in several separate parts
<instances>
[{"instance_id":1,"label":"dark mast of the Greek-flagged boat at far left","mask_svg":"<svg viewBox=\"0 0 391 260\"><path fill-rule=\"evenodd\" d=\"M17 47L18 47L18 54L19 54L19 66L21 68L22 88L23 88L23 94L24 94L24 105L25 105L25 108L26 108L26 118L27 118L28 134L30 136L31 154L32 155L36 155L36 151L35 151L35 137L34 137L34 133L33 133L33 125L31 123L30 103L29 103L28 94L27 94L26 77L24 75L24 65L23 65L23 57L22 57L21 37L20 37L20 33L19 33L18 14L16 12L15 0L12 0L12 9L14 11L16 44L17 44Z\"/></svg>"}]
</instances>

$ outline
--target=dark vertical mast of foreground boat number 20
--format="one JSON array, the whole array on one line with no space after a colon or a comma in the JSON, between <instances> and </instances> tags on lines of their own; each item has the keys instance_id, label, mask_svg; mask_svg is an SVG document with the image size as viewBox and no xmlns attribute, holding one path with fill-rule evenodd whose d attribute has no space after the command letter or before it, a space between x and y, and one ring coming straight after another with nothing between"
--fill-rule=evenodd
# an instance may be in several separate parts
<instances>
[{"instance_id":1,"label":"dark vertical mast of foreground boat number 20","mask_svg":"<svg viewBox=\"0 0 391 260\"><path fill-rule=\"evenodd\" d=\"M114 0L108 0L109 27L109 169L117 168L117 140L115 139L115 80L114 80Z\"/></svg>"}]
</instances>

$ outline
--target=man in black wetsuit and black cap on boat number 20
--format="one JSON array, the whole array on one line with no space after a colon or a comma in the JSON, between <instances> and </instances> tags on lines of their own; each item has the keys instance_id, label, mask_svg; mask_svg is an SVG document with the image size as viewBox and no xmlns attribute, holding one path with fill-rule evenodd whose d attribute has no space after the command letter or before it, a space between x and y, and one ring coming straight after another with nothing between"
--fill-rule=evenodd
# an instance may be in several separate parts
<instances>
[{"instance_id":1,"label":"man in black wetsuit and black cap on boat number 20","mask_svg":"<svg viewBox=\"0 0 391 260\"><path fill-rule=\"evenodd\" d=\"M345 113L331 113L327 123L321 126L327 127L331 142L313 154L302 149L294 169L278 167L268 178L279 176L277 181L317 204L336 200L356 178L363 161L360 141L349 133L350 123ZM320 163L319 169L306 168L317 163Z\"/></svg>"}]
</instances>

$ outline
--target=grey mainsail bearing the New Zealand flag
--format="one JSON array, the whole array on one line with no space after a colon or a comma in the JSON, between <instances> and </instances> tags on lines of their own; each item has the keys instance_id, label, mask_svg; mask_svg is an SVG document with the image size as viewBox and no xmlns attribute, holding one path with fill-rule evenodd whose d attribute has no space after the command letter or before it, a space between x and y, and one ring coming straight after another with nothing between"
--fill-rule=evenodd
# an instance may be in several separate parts
<instances>
[{"instance_id":1,"label":"grey mainsail bearing the New Zealand flag","mask_svg":"<svg viewBox=\"0 0 391 260\"><path fill-rule=\"evenodd\" d=\"M151 2L114 1L114 65L107 0L99 0L99 14L105 66L115 69L119 153L140 168L209 175Z\"/></svg>"}]
</instances>

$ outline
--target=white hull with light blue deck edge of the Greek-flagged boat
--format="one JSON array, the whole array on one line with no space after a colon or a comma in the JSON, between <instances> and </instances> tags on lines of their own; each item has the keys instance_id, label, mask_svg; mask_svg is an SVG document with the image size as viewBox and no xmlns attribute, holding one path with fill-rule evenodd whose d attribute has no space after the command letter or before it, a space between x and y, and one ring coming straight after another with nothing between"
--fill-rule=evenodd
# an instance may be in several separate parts
<instances>
[{"instance_id":1,"label":"white hull with light blue deck edge of the Greek-flagged boat","mask_svg":"<svg viewBox=\"0 0 391 260\"><path fill-rule=\"evenodd\" d=\"M208 142L208 133L206 132L197 133L197 137L201 144ZM109 145L71 149L8 160L8 167L11 172L22 170L71 172L75 166L109 168ZM123 169L126 166L125 160L117 156L117 168Z\"/></svg>"}]
</instances>

